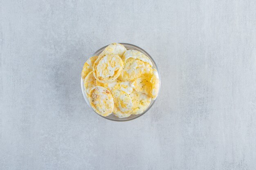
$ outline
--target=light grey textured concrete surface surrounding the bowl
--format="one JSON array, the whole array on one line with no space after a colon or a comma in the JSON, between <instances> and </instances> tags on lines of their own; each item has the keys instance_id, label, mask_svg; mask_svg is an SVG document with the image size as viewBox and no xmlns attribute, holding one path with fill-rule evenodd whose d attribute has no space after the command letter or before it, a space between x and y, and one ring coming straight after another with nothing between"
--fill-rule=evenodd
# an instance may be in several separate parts
<instances>
[{"instance_id":1,"label":"light grey textured concrete surface surrounding the bowl","mask_svg":"<svg viewBox=\"0 0 256 170\"><path fill-rule=\"evenodd\" d=\"M145 49L162 86L148 113L93 113L83 63ZM255 170L256 1L0 0L0 170Z\"/></svg>"}]
</instances>

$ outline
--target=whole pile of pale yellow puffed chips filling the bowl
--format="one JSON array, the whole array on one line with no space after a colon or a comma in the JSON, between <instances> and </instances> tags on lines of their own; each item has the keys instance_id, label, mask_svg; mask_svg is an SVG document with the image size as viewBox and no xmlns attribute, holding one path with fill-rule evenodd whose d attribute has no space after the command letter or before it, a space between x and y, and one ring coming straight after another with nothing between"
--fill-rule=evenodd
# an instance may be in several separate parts
<instances>
[{"instance_id":1,"label":"whole pile of pale yellow puffed chips filling the bowl","mask_svg":"<svg viewBox=\"0 0 256 170\"><path fill-rule=\"evenodd\" d=\"M96 113L119 118L141 114L155 100L159 75L151 60L136 50L112 43L84 64L85 94Z\"/></svg>"}]
</instances>

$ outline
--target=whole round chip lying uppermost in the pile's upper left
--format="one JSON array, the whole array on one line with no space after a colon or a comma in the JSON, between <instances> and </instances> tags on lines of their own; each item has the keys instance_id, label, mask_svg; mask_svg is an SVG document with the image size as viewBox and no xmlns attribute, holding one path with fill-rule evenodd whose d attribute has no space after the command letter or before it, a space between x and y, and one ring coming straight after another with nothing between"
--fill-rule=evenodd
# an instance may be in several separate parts
<instances>
[{"instance_id":1,"label":"whole round chip lying uppermost in the pile's upper left","mask_svg":"<svg viewBox=\"0 0 256 170\"><path fill-rule=\"evenodd\" d=\"M94 62L93 74L101 83L108 83L117 79L124 66L122 59L115 54L108 54L102 57L101 60L97 60L97 66L95 66L96 62Z\"/></svg>"}]
</instances>

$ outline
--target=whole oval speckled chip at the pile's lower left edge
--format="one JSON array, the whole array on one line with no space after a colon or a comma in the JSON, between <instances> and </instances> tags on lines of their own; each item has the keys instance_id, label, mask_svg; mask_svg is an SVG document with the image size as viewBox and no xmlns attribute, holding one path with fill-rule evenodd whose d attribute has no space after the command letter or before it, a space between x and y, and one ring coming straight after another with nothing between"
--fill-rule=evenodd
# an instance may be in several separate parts
<instances>
[{"instance_id":1,"label":"whole oval speckled chip at the pile's lower left edge","mask_svg":"<svg viewBox=\"0 0 256 170\"><path fill-rule=\"evenodd\" d=\"M96 113L102 116L110 115L114 110L114 100L111 92L101 86L95 86L89 94L89 101Z\"/></svg>"}]
</instances>

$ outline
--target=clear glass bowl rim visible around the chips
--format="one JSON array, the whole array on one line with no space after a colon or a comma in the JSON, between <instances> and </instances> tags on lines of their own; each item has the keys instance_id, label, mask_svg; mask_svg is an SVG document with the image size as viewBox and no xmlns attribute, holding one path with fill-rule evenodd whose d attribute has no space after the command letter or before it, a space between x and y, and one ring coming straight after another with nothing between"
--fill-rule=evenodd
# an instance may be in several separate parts
<instances>
[{"instance_id":1,"label":"clear glass bowl rim visible around the chips","mask_svg":"<svg viewBox=\"0 0 256 170\"><path fill-rule=\"evenodd\" d=\"M153 60L153 58L144 49L141 49L138 46L135 46L133 44L128 44L128 43L120 43L120 44L123 44L126 47L127 50L137 50L137 51L140 51L141 53L144 53L148 58L150 58L150 60L151 60L151 62L153 64L152 68L155 68L157 70L157 72L158 72L158 75L159 75L159 91L160 91L160 86L161 86L160 74L159 74L159 70L158 70L157 65L155 64L155 61ZM102 48L97 50L94 54L92 54L92 56L98 56L107 46L108 45L103 46ZM92 56L90 56L90 57L92 57ZM81 78L81 88L82 88L82 93L83 93L83 97L85 99L85 102L93 110L92 106L90 105L89 99L85 95L85 92L84 92L85 89L84 89L84 86L83 86L83 79L82 78ZM158 94L159 94L159 91L158 91ZM99 115L101 117L104 117L105 119L108 119L108 120L112 120L112 121L129 121L129 120L133 120L133 119L136 119L136 118L144 115L153 106L155 101L156 101L156 99L155 100L151 100L150 105L148 106L148 108L143 113L141 113L139 115L130 115L129 117L124 117L124 118L116 117L113 113L111 115L107 116L107 117L104 117L104 116L101 116L98 113L96 113L94 110L93 111L97 115Z\"/></svg>"}]
</instances>

